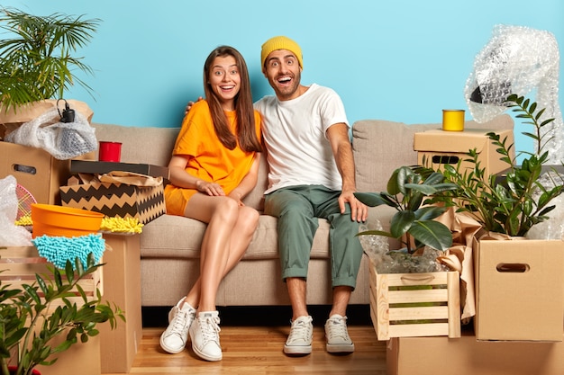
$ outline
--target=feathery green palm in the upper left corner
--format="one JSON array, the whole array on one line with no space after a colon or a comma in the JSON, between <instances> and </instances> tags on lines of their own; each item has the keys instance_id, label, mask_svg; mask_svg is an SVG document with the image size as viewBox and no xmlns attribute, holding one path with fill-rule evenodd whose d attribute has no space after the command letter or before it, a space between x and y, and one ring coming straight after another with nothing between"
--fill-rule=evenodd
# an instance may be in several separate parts
<instances>
[{"instance_id":1,"label":"feathery green palm in the upper left corner","mask_svg":"<svg viewBox=\"0 0 564 375\"><path fill-rule=\"evenodd\" d=\"M37 16L17 9L0 9L0 109L14 112L24 104L43 99L60 99L75 83L91 88L75 71L92 74L82 58L74 56L86 46L99 24L53 13Z\"/></svg>"}]
</instances>

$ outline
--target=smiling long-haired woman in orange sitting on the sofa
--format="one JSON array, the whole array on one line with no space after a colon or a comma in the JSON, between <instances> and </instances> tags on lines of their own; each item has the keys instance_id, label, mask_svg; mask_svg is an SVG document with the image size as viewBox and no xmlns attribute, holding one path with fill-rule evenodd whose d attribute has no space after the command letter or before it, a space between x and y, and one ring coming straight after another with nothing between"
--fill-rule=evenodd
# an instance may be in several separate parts
<instances>
[{"instance_id":1,"label":"smiling long-haired woman in orange sitting on the sofa","mask_svg":"<svg viewBox=\"0 0 564 375\"><path fill-rule=\"evenodd\" d=\"M241 53L229 46L205 60L205 100L182 122L168 168L167 213L207 223L200 277L168 313L160 346L180 353L190 335L194 352L220 361L219 315L215 296L223 277L249 246L259 212L242 203L257 183L260 116L252 108L250 80Z\"/></svg>"}]
</instances>

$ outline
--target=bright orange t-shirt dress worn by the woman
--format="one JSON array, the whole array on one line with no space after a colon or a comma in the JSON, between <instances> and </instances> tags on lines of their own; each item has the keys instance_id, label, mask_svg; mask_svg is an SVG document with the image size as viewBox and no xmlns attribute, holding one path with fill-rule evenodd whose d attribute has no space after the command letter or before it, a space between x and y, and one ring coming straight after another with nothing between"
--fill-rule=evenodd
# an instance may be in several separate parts
<instances>
[{"instance_id":1,"label":"bright orange t-shirt dress worn by the woman","mask_svg":"<svg viewBox=\"0 0 564 375\"><path fill-rule=\"evenodd\" d=\"M235 112L225 112L232 133L236 132ZM255 126L260 139L260 114L255 111ZM204 181L219 183L225 194L235 189L249 173L255 160L254 152L244 152L241 147L232 150L223 146L215 135L214 123L206 101L195 103L182 121L173 155L187 157L186 172ZM179 188L168 184L165 188L167 213L184 216L186 203L196 189Z\"/></svg>"}]
</instances>

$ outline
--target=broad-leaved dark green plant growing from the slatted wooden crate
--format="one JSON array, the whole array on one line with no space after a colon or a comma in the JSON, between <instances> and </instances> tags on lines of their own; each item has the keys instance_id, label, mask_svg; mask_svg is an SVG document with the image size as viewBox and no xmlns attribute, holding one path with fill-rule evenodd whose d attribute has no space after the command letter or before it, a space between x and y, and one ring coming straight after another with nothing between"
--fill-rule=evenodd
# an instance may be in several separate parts
<instances>
[{"instance_id":1,"label":"broad-leaved dark green plant growing from the slatted wooden crate","mask_svg":"<svg viewBox=\"0 0 564 375\"><path fill-rule=\"evenodd\" d=\"M368 230L359 236L374 235L396 238L413 254L423 246L446 250L452 246L452 234L435 220L447 210L438 205L426 205L426 198L437 192L457 189L444 183L444 176L418 166L401 166L387 182L387 192L355 192L357 199L369 207L382 204L397 210L390 221L390 231Z\"/></svg>"}]
</instances>

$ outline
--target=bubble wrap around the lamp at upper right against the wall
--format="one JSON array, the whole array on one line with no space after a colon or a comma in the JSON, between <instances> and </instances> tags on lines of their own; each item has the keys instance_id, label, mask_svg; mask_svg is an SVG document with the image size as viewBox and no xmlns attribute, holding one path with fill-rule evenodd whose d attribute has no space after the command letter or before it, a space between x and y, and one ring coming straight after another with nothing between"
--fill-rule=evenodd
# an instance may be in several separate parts
<instances>
[{"instance_id":1,"label":"bubble wrap around the lamp at upper right against the wall","mask_svg":"<svg viewBox=\"0 0 564 375\"><path fill-rule=\"evenodd\" d=\"M482 103L470 100L477 89ZM544 150L549 151L548 164L554 165L564 160L558 91L559 49L554 35L523 26L496 25L491 40L474 60L464 95L474 120L486 122L505 112L501 104L507 94L531 97L536 92L537 108L546 109L541 121L555 119L542 129L542 135L553 133Z\"/></svg>"}]
</instances>

